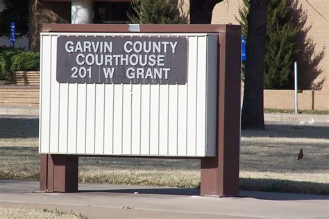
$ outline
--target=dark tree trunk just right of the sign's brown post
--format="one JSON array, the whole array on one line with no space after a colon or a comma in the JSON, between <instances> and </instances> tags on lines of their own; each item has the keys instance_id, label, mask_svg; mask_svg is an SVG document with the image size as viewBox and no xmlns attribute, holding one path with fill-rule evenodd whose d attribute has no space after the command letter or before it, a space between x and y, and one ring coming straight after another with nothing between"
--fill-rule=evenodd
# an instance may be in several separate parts
<instances>
[{"instance_id":1,"label":"dark tree trunk just right of the sign's brown post","mask_svg":"<svg viewBox=\"0 0 329 219\"><path fill-rule=\"evenodd\" d=\"M264 129L264 51L267 0L251 0L246 44L242 129Z\"/></svg>"}]
</instances>

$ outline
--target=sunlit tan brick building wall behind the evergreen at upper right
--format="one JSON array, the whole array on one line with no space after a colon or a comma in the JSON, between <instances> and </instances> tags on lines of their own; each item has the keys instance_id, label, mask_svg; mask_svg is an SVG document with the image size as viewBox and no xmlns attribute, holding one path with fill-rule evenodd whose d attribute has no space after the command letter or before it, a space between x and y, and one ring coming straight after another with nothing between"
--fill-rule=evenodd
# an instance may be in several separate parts
<instances>
[{"instance_id":1,"label":"sunlit tan brick building wall behind the evergreen at upper right","mask_svg":"<svg viewBox=\"0 0 329 219\"><path fill-rule=\"evenodd\" d=\"M329 1L328 0L308 0L315 8L312 8L307 1L299 0L298 6L306 12L307 21L305 28L312 26L307 33L307 37L315 44L314 54L326 48L324 57L315 69L311 71L309 60L298 62L298 85L301 89L311 89L312 85L319 85L323 81L321 91L329 92ZM238 24L235 16L239 17L238 9L242 7L242 0L228 0L218 3L212 12L212 24ZM321 17L321 15L323 17ZM318 75L319 73L319 75Z\"/></svg>"}]
</instances>

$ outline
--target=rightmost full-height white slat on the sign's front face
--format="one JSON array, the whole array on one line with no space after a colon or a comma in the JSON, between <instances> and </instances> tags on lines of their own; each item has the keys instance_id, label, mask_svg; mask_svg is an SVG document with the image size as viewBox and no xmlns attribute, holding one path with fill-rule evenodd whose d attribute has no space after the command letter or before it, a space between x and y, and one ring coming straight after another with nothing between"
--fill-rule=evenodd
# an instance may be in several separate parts
<instances>
[{"instance_id":1,"label":"rightmost full-height white slat on the sign's front face","mask_svg":"<svg viewBox=\"0 0 329 219\"><path fill-rule=\"evenodd\" d=\"M198 87L196 105L196 155L205 155L205 78L207 75L207 37L198 41Z\"/></svg>"}]
</instances>

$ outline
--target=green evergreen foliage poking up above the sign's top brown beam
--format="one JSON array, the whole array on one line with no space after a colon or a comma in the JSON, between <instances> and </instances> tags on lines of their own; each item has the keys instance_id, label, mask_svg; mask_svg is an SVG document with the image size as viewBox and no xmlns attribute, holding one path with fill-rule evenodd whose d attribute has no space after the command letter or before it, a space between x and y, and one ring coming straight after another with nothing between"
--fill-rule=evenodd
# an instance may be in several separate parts
<instances>
[{"instance_id":1,"label":"green evergreen foliage poking up above the sign's top brown beam","mask_svg":"<svg viewBox=\"0 0 329 219\"><path fill-rule=\"evenodd\" d=\"M133 0L135 15L128 15L135 24L187 24L183 12L183 1L175 0Z\"/></svg>"}]
</instances>

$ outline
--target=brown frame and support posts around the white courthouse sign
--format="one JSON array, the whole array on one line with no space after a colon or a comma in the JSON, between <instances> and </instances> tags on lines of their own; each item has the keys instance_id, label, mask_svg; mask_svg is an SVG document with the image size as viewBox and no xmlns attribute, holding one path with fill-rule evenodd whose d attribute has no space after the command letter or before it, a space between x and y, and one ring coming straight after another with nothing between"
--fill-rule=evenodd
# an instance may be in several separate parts
<instances>
[{"instance_id":1,"label":"brown frame and support posts around the white courthouse sign","mask_svg":"<svg viewBox=\"0 0 329 219\"><path fill-rule=\"evenodd\" d=\"M240 26L141 24L138 28L130 28L128 24L44 24L43 30L48 33L136 33L137 31L137 33L211 33L218 35L217 146L215 157L201 158L201 195L239 195ZM68 53L71 50L70 44L74 44L74 41L71 40L67 44ZM109 49L110 45L104 48ZM174 63L174 65L177 64ZM60 68L65 69L65 67ZM71 79L65 79L65 76L60 75L58 80L68 82L67 80ZM106 80L99 78L90 78L90 80L92 80L91 82L98 80L100 83L106 83ZM119 83L125 82L125 78L117 78L116 80ZM185 80L188 79L183 76L183 78L173 78L172 81L168 82L138 80L136 83L179 84L184 83ZM41 154L40 191L78 191L78 156ZM103 157L115 157L115 155ZM170 158L172 159L172 157Z\"/></svg>"}]
</instances>

